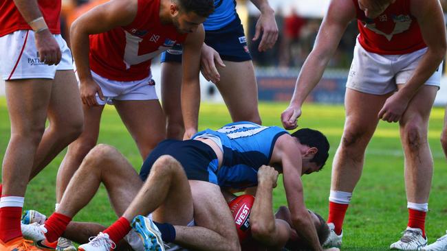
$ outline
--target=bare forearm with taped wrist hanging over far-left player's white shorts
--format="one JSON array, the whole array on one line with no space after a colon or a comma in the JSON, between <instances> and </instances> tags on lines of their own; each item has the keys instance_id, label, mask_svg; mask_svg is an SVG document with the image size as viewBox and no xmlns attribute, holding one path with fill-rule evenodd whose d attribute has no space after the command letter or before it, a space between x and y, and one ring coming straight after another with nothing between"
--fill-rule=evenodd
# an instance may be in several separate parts
<instances>
[{"instance_id":1,"label":"bare forearm with taped wrist hanging over far-left player's white shorts","mask_svg":"<svg viewBox=\"0 0 447 251\"><path fill-rule=\"evenodd\" d=\"M56 39L48 29L42 12L39 10L36 0L14 0L17 10L23 19L34 31L36 48L39 51L39 59L45 64L52 65L61 62L62 53Z\"/></svg>"}]
</instances>

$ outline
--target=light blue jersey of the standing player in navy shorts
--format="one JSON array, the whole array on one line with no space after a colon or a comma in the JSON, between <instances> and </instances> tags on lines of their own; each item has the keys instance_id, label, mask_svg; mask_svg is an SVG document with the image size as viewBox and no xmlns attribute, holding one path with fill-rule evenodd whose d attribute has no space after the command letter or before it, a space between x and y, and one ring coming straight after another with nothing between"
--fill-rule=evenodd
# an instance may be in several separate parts
<instances>
[{"instance_id":1,"label":"light blue jersey of the standing player in navy shorts","mask_svg":"<svg viewBox=\"0 0 447 251\"><path fill-rule=\"evenodd\" d=\"M235 0L215 0L214 12L208 16L204 23L206 31L221 29L237 17Z\"/></svg>"}]
</instances>

